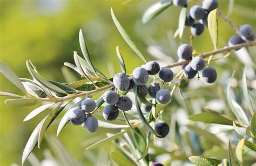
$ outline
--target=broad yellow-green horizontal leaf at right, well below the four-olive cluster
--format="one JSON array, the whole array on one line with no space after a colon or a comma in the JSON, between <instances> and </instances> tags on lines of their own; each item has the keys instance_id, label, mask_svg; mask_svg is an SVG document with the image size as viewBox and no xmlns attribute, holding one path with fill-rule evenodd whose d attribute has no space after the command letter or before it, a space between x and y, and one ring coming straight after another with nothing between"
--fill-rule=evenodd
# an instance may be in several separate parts
<instances>
[{"instance_id":1,"label":"broad yellow-green horizontal leaf at right, well below the four-olive cluster","mask_svg":"<svg viewBox=\"0 0 256 166\"><path fill-rule=\"evenodd\" d=\"M221 124L221 125L233 125L233 119L226 117L221 113L203 112L199 114L194 114L188 117L188 119L193 121L201 121L207 124Z\"/></svg>"}]
</instances>

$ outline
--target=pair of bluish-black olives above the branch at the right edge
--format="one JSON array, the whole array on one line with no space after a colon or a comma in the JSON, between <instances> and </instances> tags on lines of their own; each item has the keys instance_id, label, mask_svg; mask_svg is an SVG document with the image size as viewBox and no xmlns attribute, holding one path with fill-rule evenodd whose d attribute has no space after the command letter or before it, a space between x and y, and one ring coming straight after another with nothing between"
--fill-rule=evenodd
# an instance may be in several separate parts
<instances>
[{"instance_id":1,"label":"pair of bluish-black olives above the branch at the right edge","mask_svg":"<svg viewBox=\"0 0 256 166\"><path fill-rule=\"evenodd\" d=\"M251 27L251 25L245 24L242 25L239 29L239 35L233 35L228 41L229 46L242 44L246 41L254 41L255 33Z\"/></svg>"}]
</instances>

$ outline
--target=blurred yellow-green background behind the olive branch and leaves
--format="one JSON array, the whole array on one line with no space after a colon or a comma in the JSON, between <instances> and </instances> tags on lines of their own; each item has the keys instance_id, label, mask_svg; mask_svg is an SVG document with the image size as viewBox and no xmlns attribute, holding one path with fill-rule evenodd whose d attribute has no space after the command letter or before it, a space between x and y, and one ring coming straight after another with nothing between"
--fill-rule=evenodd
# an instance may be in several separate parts
<instances>
[{"instance_id":1,"label":"blurred yellow-green background behind the olive branch and leaves","mask_svg":"<svg viewBox=\"0 0 256 166\"><path fill-rule=\"evenodd\" d=\"M92 62L100 71L108 77L112 77L109 68L113 67L116 73L120 71L116 56L116 46L119 45L127 71L131 73L143 62L127 46L114 26L110 16L111 7L127 33L142 49L147 60L153 59L147 53L149 44L160 45L177 59L173 46L170 46L167 40L166 32L176 31L180 9L171 6L156 19L143 25L141 23L143 12L156 1L135 1L136 3L127 4L123 2L121 0L0 1L1 61L8 64L19 77L31 78L25 67L25 61L31 60L45 78L65 82L60 68L64 62L73 63L73 50L78 50L79 55L82 55L78 42L78 32L82 28ZM228 1L219 2L219 10L225 15ZM230 19L238 25L251 24L255 30L255 10L254 0L235 0ZM218 47L225 46L233 34L232 28L220 19ZM183 39L177 38L177 42L180 44L189 41L190 29L186 28ZM199 52L213 49L207 28L203 35L194 39L193 48ZM234 57L231 57L230 63L232 59ZM230 67L234 69L232 64ZM2 74L0 79L1 91L24 95ZM28 122L23 122L26 115L36 106L10 107L4 104L5 99L7 98L0 98L0 165L20 164L26 141L46 112ZM56 128L56 126L51 127L46 134L55 134ZM85 156L91 153L97 154L97 149L87 152L82 142L104 132L100 129L97 133L89 134L83 128L68 125L58 139L77 160L90 163ZM42 151L47 147L45 140L41 149L36 147L34 153L39 159L43 158ZM26 164L29 165L28 162Z\"/></svg>"}]
</instances>

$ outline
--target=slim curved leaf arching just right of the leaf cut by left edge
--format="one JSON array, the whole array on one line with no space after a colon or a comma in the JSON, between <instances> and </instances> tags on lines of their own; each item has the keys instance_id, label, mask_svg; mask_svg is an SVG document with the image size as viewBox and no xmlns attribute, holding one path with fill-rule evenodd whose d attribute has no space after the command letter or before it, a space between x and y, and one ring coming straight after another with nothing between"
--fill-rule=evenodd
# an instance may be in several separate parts
<instances>
[{"instance_id":1,"label":"slim curved leaf arching just right of the leaf cut by left edge","mask_svg":"<svg viewBox=\"0 0 256 166\"><path fill-rule=\"evenodd\" d=\"M29 66L29 61L26 61L26 67L28 68L30 75L35 80L37 80L39 83L43 84L44 86L46 86L47 88L49 88L53 91L66 94L66 92L64 90L58 88L56 85L53 85L49 81L45 80L45 78L43 78L41 75L39 75L35 70L32 70L31 67Z\"/></svg>"}]
</instances>

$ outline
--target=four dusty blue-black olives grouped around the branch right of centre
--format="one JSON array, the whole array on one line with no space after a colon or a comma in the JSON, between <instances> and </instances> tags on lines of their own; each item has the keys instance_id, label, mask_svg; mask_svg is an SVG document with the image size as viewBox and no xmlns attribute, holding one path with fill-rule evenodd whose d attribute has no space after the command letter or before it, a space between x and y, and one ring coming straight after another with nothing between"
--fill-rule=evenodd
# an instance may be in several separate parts
<instances>
[{"instance_id":1,"label":"four dusty blue-black olives grouped around the branch right of centre","mask_svg":"<svg viewBox=\"0 0 256 166\"><path fill-rule=\"evenodd\" d=\"M192 47L187 44L183 44L179 46L177 54L179 56L179 61L185 61L192 59ZM217 79L217 72L213 67L206 67L205 60L200 57L196 56L194 57L190 63L183 64L180 67L184 69L184 76L187 79L194 78L198 71L203 70L202 76L203 80L207 83L214 83Z\"/></svg>"}]
</instances>

